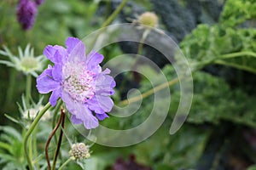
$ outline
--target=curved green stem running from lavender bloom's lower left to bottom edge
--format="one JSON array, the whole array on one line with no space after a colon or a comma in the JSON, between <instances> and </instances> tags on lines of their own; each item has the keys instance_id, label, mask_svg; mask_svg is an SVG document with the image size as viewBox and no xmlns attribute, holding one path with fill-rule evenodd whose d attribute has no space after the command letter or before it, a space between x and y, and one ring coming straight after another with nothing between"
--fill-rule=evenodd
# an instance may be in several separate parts
<instances>
[{"instance_id":1,"label":"curved green stem running from lavender bloom's lower left to bottom edge","mask_svg":"<svg viewBox=\"0 0 256 170\"><path fill-rule=\"evenodd\" d=\"M50 104L48 103L47 105L44 106L43 110L40 111L38 113L38 116L35 118L35 120L32 122L31 126L29 127L29 129L27 130L26 134L25 134L25 139L24 139L24 153L25 153L25 156L26 156L26 161L28 163L28 167L30 170L33 169L33 166L32 166L32 157L29 156L29 151L27 150L26 146L27 146L27 142L28 142L28 139L31 135L31 133L33 132L33 130L35 129L35 127L38 125L38 122L40 121L41 117L44 116L44 113L49 109L50 107Z\"/></svg>"}]
</instances>

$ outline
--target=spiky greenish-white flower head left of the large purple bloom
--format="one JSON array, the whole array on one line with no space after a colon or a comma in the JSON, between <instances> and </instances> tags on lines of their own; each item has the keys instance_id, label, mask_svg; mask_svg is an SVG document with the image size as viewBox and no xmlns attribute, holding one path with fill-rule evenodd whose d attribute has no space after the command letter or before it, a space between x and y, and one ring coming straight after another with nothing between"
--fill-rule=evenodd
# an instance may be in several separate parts
<instances>
[{"instance_id":1,"label":"spiky greenish-white flower head left of the large purple bloom","mask_svg":"<svg viewBox=\"0 0 256 170\"><path fill-rule=\"evenodd\" d=\"M14 67L17 71L22 71L25 75L31 74L33 77L38 77L36 71L43 71L44 61L46 60L44 55L34 57L34 49L30 48L27 44L22 52L21 48L18 47L19 57L15 56L9 51L9 48L3 46L3 50L0 50L0 54L9 57L9 60L1 60L0 64Z\"/></svg>"}]
</instances>

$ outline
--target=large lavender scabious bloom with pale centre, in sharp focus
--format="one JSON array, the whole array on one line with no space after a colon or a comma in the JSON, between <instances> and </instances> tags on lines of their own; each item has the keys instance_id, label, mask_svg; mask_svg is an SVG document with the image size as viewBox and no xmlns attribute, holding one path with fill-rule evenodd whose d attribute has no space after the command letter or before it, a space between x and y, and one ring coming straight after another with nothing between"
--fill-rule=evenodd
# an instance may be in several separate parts
<instances>
[{"instance_id":1,"label":"large lavender scabious bloom with pale centre, in sharp focus","mask_svg":"<svg viewBox=\"0 0 256 170\"><path fill-rule=\"evenodd\" d=\"M113 108L115 82L106 69L99 65L103 55L91 51L85 55L85 46L78 38L68 37L67 48L48 45L44 55L55 65L37 78L39 93L52 92L49 102L55 105L58 98L66 104L74 124L84 124L87 129L99 125Z\"/></svg>"}]
</instances>

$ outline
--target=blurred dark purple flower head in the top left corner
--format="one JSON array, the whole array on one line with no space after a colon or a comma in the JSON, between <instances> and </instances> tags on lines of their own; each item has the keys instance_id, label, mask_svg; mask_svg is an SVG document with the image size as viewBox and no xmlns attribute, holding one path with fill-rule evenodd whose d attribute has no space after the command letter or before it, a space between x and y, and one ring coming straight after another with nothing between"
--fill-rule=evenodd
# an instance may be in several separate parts
<instances>
[{"instance_id":1,"label":"blurred dark purple flower head in the top left corner","mask_svg":"<svg viewBox=\"0 0 256 170\"><path fill-rule=\"evenodd\" d=\"M37 4L30 0L20 0L16 9L17 20L24 30L32 28L38 13Z\"/></svg>"}]
</instances>

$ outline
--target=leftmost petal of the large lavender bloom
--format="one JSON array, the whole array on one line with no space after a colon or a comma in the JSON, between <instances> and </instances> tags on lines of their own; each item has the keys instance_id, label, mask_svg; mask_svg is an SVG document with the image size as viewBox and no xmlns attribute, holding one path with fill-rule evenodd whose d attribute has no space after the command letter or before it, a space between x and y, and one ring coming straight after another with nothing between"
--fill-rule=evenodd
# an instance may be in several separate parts
<instances>
[{"instance_id":1,"label":"leftmost petal of the large lavender bloom","mask_svg":"<svg viewBox=\"0 0 256 170\"><path fill-rule=\"evenodd\" d=\"M48 94L50 91L61 88L61 82L53 79L50 66L37 78L37 88L40 94Z\"/></svg>"}]
</instances>

